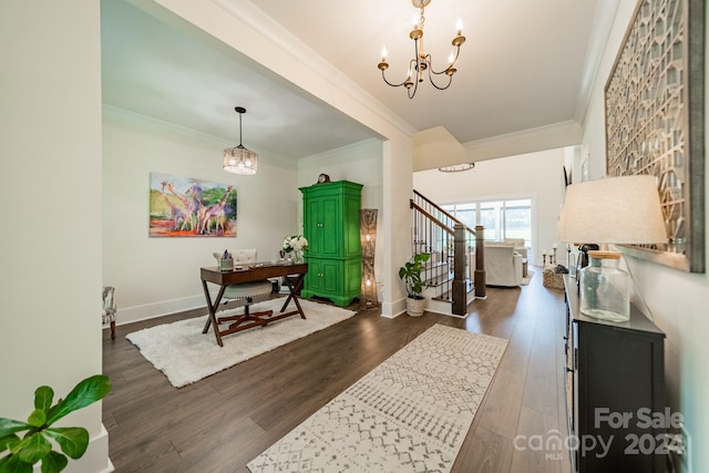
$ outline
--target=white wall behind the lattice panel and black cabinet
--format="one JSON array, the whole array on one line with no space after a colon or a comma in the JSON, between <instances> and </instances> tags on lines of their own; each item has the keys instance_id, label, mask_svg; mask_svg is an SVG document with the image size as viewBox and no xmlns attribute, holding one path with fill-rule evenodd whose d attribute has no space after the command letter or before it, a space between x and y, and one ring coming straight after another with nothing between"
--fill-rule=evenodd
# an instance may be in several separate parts
<instances>
[{"instance_id":1,"label":"white wall behind the lattice panel and black cabinet","mask_svg":"<svg viewBox=\"0 0 709 473\"><path fill-rule=\"evenodd\" d=\"M616 22L594 84L584 135L584 150L589 154L592 179L600 178L605 174L604 85L630 22L634 7L635 2L630 1L618 3ZM705 43L709 44L706 40ZM705 64L709 64L707 58ZM709 74L706 71L705 79L705 89L709 90ZM709 116L707 112L705 114ZM705 123L706 142L709 137L709 120ZM707 144L705 146L707 147ZM706 160L706 156L692 158L696 157ZM706 176L705 189L709 189L709 179ZM709 192L705 195L705 208L709 213ZM705 215L705 222L709 224L709 215ZM709 244L709 239L707 243ZM709 439L709 276L682 273L631 257L626 257L625 260L635 275L638 291L655 315L655 322L667 333L665 374L668 401L674 410L684 414L692 440L693 448L688 466L693 466L695 472L703 472L709 465L709 450L703 448Z\"/></svg>"}]
</instances>

